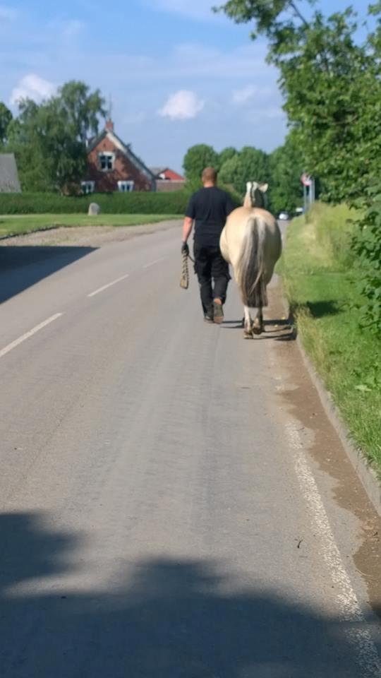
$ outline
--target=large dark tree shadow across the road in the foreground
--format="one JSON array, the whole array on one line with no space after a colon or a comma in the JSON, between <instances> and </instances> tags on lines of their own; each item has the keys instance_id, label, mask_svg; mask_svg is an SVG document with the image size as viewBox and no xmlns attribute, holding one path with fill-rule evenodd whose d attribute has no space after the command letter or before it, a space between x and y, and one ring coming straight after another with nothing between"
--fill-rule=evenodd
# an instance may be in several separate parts
<instances>
[{"instance_id":1,"label":"large dark tree shadow across the road in the foreground","mask_svg":"<svg viewBox=\"0 0 381 678\"><path fill-rule=\"evenodd\" d=\"M2 678L360 675L344 622L252 575L238 588L216 561L118 559L108 590L65 590L82 537L48 518L0 516Z\"/></svg>"}]
</instances>

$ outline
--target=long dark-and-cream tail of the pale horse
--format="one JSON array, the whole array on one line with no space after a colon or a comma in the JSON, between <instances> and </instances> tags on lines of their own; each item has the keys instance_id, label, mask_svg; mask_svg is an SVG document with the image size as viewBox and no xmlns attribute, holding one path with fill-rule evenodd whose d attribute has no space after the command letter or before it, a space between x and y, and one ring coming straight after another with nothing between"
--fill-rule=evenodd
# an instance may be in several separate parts
<instances>
[{"instance_id":1,"label":"long dark-and-cream tail of the pale horse","mask_svg":"<svg viewBox=\"0 0 381 678\"><path fill-rule=\"evenodd\" d=\"M243 305L250 308L267 306L267 291L263 280L265 232L265 223L261 219L248 219L236 264L236 280Z\"/></svg>"}]
</instances>

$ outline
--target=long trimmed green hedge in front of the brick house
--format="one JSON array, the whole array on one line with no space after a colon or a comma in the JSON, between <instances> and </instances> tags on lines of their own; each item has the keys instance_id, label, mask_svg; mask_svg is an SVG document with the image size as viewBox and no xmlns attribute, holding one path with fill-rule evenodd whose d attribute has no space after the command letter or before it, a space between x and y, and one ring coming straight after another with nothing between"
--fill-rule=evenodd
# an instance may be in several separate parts
<instances>
[{"instance_id":1,"label":"long trimmed green hedge in front of the brick house","mask_svg":"<svg viewBox=\"0 0 381 678\"><path fill-rule=\"evenodd\" d=\"M99 193L66 197L52 193L0 193L0 214L80 214L98 203L103 214L183 214L188 191Z\"/></svg>"}]
</instances>

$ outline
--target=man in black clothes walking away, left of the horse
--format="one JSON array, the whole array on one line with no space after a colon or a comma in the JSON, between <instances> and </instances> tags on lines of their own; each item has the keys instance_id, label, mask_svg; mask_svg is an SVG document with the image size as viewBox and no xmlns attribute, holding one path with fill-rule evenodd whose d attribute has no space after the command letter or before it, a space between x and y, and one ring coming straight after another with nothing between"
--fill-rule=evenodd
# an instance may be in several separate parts
<instances>
[{"instance_id":1,"label":"man in black clothes walking away, left of the horse","mask_svg":"<svg viewBox=\"0 0 381 678\"><path fill-rule=\"evenodd\" d=\"M193 194L186 208L181 252L189 253L187 240L194 223L195 273L204 319L222 323L230 275L229 264L219 249L219 237L234 204L228 193L217 188L217 172L213 167L206 167L202 172L202 184L203 188Z\"/></svg>"}]
</instances>

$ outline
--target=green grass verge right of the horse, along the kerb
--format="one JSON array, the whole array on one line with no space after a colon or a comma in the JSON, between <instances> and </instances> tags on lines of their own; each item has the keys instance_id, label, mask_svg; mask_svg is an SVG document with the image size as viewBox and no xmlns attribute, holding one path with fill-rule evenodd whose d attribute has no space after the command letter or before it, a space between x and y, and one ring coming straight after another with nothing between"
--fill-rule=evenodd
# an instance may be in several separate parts
<instances>
[{"instance_id":1,"label":"green grass verge right of the horse, along the kerb","mask_svg":"<svg viewBox=\"0 0 381 678\"><path fill-rule=\"evenodd\" d=\"M303 345L381 478L381 343L353 307L351 217L345 206L318 205L308 222L294 220L280 268Z\"/></svg>"}]
</instances>

